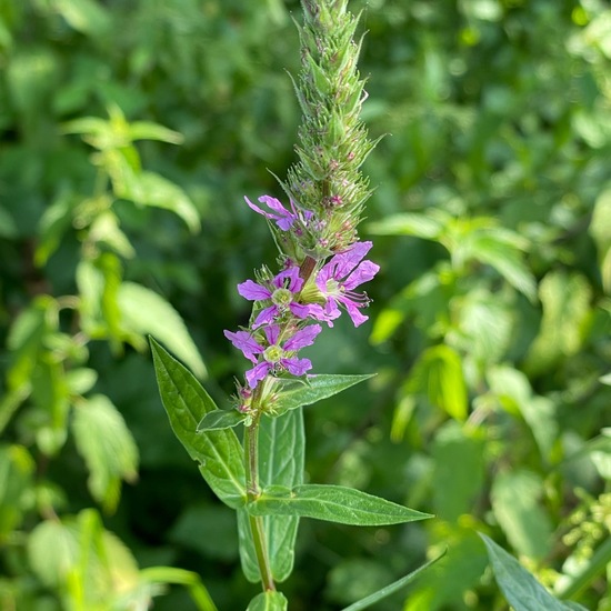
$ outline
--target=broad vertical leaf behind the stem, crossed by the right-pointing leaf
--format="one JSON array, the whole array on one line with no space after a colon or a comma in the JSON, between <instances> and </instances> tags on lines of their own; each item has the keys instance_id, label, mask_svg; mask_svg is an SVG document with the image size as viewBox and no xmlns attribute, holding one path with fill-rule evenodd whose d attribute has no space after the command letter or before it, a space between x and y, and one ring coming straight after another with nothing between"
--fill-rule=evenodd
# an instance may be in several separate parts
<instances>
[{"instance_id":1,"label":"broad vertical leaf behind the stem, crossed by the right-pointing leaf","mask_svg":"<svg viewBox=\"0 0 611 611\"><path fill-rule=\"evenodd\" d=\"M302 410L292 410L281 418L263 418L259 428L259 479L263 488L277 483L287 488L303 482L306 434ZM240 555L247 579L260 581L257 555L250 537L249 515L238 515ZM266 515L263 529L268 542L274 581L284 581L292 571L299 517Z\"/></svg>"}]
</instances>

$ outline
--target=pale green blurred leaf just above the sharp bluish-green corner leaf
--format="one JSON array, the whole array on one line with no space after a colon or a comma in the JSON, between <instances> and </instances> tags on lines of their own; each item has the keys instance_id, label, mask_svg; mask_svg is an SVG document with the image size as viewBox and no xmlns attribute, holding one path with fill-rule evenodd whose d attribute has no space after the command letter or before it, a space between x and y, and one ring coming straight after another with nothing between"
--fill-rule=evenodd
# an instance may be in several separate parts
<instances>
[{"instance_id":1,"label":"pale green blurred leaf just above the sharp bluish-green corner leaf","mask_svg":"<svg viewBox=\"0 0 611 611\"><path fill-rule=\"evenodd\" d=\"M553 543L542 497L541 477L525 469L499 473L492 484L492 510L508 541L519 554L535 560L544 558Z\"/></svg>"}]
</instances>

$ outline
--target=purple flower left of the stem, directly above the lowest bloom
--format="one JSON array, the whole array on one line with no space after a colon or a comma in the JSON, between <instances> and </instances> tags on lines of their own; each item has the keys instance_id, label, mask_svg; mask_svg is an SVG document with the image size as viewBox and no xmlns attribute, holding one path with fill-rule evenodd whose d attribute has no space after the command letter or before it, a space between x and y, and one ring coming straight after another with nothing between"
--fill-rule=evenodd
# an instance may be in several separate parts
<instances>
[{"instance_id":1,"label":"purple flower left of the stem, directly above the lowest bloom","mask_svg":"<svg viewBox=\"0 0 611 611\"><path fill-rule=\"evenodd\" d=\"M261 327L290 310L297 318L304 319L310 314L311 306L303 306L294 301L301 291L303 279L299 277L299 268L291 267L281 271L271 282L270 288L263 287L252 280L238 284L238 292L249 301L263 301L271 299L272 304L259 312L253 329Z\"/></svg>"}]
</instances>

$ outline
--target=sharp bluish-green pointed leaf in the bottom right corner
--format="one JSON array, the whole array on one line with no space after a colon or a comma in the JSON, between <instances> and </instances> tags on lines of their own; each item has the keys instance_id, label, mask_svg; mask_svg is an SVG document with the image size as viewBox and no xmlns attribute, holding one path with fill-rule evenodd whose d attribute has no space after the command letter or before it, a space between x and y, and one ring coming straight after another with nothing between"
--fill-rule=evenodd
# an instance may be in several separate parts
<instances>
[{"instance_id":1,"label":"sharp bluish-green pointed leaf in the bottom right corner","mask_svg":"<svg viewBox=\"0 0 611 611\"><path fill-rule=\"evenodd\" d=\"M569 607L554 599L529 571L527 571L512 555L507 553L492 539L479 533L488 549L488 555L507 601L515 611L568 611L569 609L584 609Z\"/></svg>"}]
</instances>

